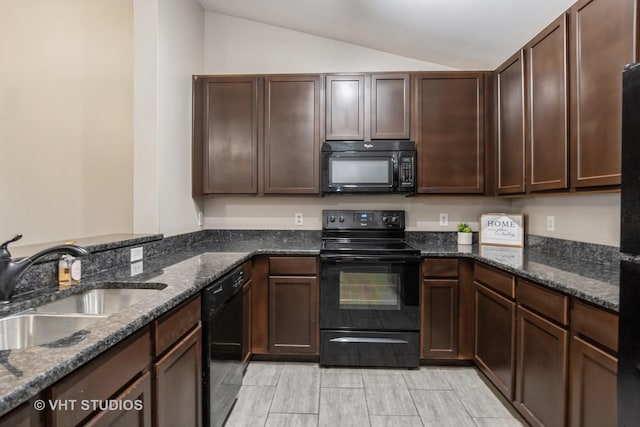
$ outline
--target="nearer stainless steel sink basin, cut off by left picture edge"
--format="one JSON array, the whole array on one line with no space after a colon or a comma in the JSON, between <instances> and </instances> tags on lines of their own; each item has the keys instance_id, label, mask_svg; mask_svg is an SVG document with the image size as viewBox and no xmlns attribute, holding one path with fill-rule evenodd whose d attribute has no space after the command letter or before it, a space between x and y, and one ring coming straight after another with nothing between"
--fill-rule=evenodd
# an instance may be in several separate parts
<instances>
[{"instance_id":1,"label":"nearer stainless steel sink basin, cut off by left picture edge","mask_svg":"<svg viewBox=\"0 0 640 427\"><path fill-rule=\"evenodd\" d=\"M82 314L17 314L0 319L0 351L35 345L74 344L84 338L80 332L106 316Z\"/></svg>"}]
</instances>

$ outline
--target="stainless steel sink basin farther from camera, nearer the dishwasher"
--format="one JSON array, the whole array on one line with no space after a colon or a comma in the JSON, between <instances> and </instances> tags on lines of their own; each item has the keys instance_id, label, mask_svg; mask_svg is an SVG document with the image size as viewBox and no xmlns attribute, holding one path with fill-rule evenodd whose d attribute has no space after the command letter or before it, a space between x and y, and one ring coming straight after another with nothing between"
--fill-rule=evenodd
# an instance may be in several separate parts
<instances>
[{"instance_id":1,"label":"stainless steel sink basin farther from camera, nearer the dishwasher","mask_svg":"<svg viewBox=\"0 0 640 427\"><path fill-rule=\"evenodd\" d=\"M149 298L154 292L158 292L158 289L92 289L41 305L35 311L111 315Z\"/></svg>"}]
</instances>

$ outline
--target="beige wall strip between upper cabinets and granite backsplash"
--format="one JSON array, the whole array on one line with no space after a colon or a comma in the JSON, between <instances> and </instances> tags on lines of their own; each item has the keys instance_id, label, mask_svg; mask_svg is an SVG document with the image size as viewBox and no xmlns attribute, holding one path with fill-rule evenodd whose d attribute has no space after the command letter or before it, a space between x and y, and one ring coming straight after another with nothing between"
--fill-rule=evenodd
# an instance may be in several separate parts
<instances>
[{"instance_id":1,"label":"beige wall strip between upper cabinets and granite backsplash","mask_svg":"<svg viewBox=\"0 0 640 427\"><path fill-rule=\"evenodd\" d=\"M618 246L620 239L619 194L523 199L474 196L216 196L204 201L204 227L319 230L322 228L322 209L404 209L408 231L454 231L459 222L467 222L477 231L481 213L516 212L526 215L527 234L606 246ZM302 226L295 225L295 213L303 214ZM441 213L448 214L448 226L439 225ZM554 217L553 232L547 230L549 215Z\"/></svg>"}]
</instances>

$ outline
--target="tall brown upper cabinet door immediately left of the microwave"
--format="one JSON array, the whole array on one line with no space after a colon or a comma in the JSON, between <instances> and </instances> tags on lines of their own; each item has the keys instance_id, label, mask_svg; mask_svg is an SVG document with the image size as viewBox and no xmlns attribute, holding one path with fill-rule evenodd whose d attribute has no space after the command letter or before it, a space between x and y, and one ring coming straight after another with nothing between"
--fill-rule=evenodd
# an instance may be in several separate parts
<instances>
[{"instance_id":1,"label":"tall brown upper cabinet door immediately left of the microwave","mask_svg":"<svg viewBox=\"0 0 640 427\"><path fill-rule=\"evenodd\" d=\"M264 192L320 192L320 76L265 78Z\"/></svg>"}]
</instances>

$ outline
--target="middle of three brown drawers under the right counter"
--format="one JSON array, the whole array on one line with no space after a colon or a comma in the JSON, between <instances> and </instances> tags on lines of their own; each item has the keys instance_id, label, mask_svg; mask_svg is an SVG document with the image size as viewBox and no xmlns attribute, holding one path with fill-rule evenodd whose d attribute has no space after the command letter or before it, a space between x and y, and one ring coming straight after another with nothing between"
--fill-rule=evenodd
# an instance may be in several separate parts
<instances>
[{"instance_id":1,"label":"middle of three brown drawers under the right counter","mask_svg":"<svg viewBox=\"0 0 640 427\"><path fill-rule=\"evenodd\" d=\"M528 307L562 325L569 324L569 297L518 279L518 304Z\"/></svg>"}]
</instances>

